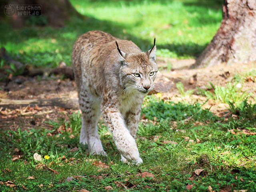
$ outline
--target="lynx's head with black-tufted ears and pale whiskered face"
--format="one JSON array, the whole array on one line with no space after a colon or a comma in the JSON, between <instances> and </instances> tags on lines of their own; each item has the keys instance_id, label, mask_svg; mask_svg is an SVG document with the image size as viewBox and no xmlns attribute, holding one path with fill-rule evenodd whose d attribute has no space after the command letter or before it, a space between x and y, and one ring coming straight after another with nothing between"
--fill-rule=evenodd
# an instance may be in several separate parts
<instances>
[{"instance_id":1,"label":"lynx's head with black-tufted ears and pale whiskered face","mask_svg":"<svg viewBox=\"0 0 256 192\"><path fill-rule=\"evenodd\" d=\"M156 38L153 47L147 52L126 54L119 49L116 42L118 60L121 63L119 78L125 92L148 94L153 90L157 73L155 43Z\"/></svg>"}]
</instances>

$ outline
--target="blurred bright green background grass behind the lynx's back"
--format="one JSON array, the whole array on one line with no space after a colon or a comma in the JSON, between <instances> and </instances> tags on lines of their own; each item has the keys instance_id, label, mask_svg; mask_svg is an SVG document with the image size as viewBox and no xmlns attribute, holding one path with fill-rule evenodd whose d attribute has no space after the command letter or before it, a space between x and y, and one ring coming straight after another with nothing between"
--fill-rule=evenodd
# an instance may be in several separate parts
<instances>
[{"instance_id":1,"label":"blurred bright green background grass behind the lynx's back","mask_svg":"<svg viewBox=\"0 0 256 192\"><path fill-rule=\"evenodd\" d=\"M1 22L0 46L25 64L56 67L64 61L70 65L76 38L89 30L102 30L132 40L144 51L156 37L158 56L194 58L210 42L222 18L220 1L71 0L71 3L85 19L71 18L63 28L45 26L44 16L30 18L20 29Z\"/></svg>"}]
</instances>

